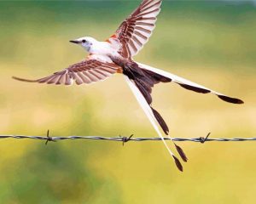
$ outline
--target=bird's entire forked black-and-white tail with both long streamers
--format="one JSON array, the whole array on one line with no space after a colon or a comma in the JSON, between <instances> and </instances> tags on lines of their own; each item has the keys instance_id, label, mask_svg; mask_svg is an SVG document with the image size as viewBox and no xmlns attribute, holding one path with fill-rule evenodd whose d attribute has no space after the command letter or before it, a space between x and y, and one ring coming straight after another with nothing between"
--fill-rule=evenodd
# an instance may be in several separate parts
<instances>
[{"instance_id":1,"label":"bird's entire forked black-and-white tail with both long streamers","mask_svg":"<svg viewBox=\"0 0 256 204\"><path fill-rule=\"evenodd\" d=\"M173 75L169 72L162 71L148 65L143 65L141 63L131 62L130 64L125 65L124 74L126 82L128 82L132 93L137 98L138 103L142 106L143 111L148 116L148 119L152 123L155 131L163 140L164 144L166 145L166 149L171 154L180 171L183 171L182 164L177 159L177 157L174 156L172 150L170 150L170 148L166 144L166 141L160 133L157 123L159 123L163 131L166 133L169 139L171 139L171 137L169 136L169 128L166 125L166 122L164 121L162 116L160 116L160 113L158 111L155 111L154 108L151 106L151 92L154 84L159 82L176 82L181 87L186 88L190 91L195 91L201 94L211 93L217 95L219 99L222 99L226 102L233 104L243 104L243 101L241 99L236 99L224 94L220 94L216 91L211 90L210 88L206 88L195 82L190 82L189 80L182 77L177 77L176 75ZM182 148L179 147L177 144L175 144L175 147L179 155L182 157L183 161L187 161L188 159L185 156Z\"/></svg>"}]
</instances>

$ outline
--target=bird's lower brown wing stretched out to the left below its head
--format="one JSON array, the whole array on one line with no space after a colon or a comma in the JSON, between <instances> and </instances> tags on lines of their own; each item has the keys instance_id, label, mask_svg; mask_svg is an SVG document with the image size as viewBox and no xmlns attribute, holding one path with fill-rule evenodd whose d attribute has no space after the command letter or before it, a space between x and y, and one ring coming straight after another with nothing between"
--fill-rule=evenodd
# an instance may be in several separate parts
<instances>
[{"instance_id":1,"label":"bird's lower brown wing stretched out to the left below its head","mask_svg":"<svg viewBox=\"0 0 256 204\"><path fill-rule=\"evenodd\" d=\"M72 85L74 81L80 85L82 83L102 81L112 76L118 71L118 69L119 66L113 63L103 63L96 59L89 59L71 65L63 71L55 72L49 77L44 77L37 80L27 80L19 77L13 78L22 82L39 82L65 85Z\"/></svg>"}]
</instances>

